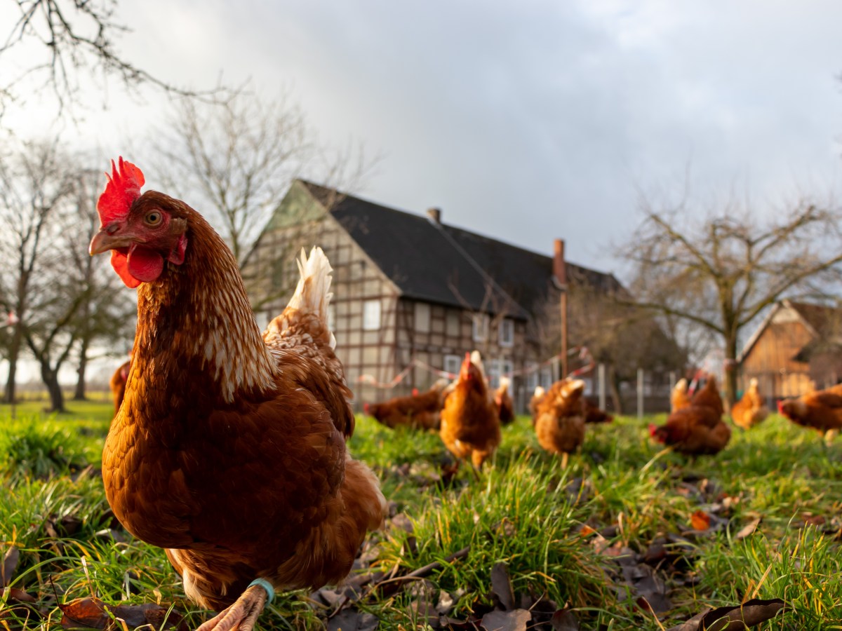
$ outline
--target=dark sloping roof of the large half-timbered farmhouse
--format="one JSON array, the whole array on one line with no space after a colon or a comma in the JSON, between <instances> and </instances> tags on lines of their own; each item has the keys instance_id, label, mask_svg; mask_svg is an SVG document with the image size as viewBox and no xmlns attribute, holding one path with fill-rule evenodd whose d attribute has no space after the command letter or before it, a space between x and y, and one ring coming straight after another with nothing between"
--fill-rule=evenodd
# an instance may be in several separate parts
<instances>
[{"instance_id":1,"label":"dark sloping roof of the large half-timbered farmhouse","mask_svg":"<svg viewBox=\"0 0 842 631\"><path fill-rule=\"evenodd\" d=\"M332 215L408 298L520 318L546 301L552 257L303 183L322 203L333 202ZM569 262L567 270L570 282L621 289L611 274Z\"/></svg>"}]
</instances>

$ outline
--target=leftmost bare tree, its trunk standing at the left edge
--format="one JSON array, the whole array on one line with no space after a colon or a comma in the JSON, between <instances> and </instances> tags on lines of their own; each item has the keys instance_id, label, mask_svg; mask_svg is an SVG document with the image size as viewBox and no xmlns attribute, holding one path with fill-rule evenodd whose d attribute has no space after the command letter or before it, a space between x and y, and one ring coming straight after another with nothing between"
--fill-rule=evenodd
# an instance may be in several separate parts
<instances>
[{"instance_id":1,"label":"leftmost bare tree, its trunk standing at the left edge","mask_svg":"<svg viewBox=\"0 0 842 631\"><path fill-rule=\"evenodd\" d=\"M56 248L51 218L72 191L56 143L24 143L13 156L0 156L0 252L9 264L0 271L0 304L13 313L8 338L8 379L3 400L15 399L18 360L34 314L51 302Z\"/></svg>"}]
</instances>

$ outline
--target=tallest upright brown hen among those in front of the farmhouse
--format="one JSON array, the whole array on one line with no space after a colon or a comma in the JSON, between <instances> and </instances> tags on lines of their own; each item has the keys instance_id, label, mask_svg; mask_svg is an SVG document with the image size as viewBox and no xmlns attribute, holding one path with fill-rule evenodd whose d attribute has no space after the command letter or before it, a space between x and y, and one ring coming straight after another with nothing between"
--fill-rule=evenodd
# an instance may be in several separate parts
<instances>
[{"instance_id":1,"label":"tallest upright brown hen among those in front of the farmhouse","mask_svg":"<svg viewBox=\"0 0 842 631\"><path fill-rule=\"evenodd\" d=\"M489 396L478 353L466 353L453 390L445 398L439 430L445 447L476 469L500 444L500 419Z\"/></svg>"}]
</instances>

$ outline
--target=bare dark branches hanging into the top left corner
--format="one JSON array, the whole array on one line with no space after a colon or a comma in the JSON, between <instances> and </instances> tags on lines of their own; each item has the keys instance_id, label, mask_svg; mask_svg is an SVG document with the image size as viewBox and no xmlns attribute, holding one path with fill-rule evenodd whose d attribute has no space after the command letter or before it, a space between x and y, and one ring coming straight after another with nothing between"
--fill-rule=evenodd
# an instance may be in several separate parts
<instances>
[{"instance_id":1,"label":"bare dark branches hanging into the top left corner","mask_svg":"<svg viewBox=\"0 0 842 631\"><path fill-rule=\"evenodd\" d=\"M117 0L12 0L18 18L4 25L7 34L0 40L0 61L20 51L23 69L17 76L14 66L5 66L0 83L0 114L8 102L35 87L55 94L59 112L81 101L79 77L117 77L126 87L152 85L180 96L210 96L215 91L196 92L176 87L144 71L120 54L115 40L125 26L115 21ZM2 34L0 34L2 36Z\"/></svg>"}]
</instances>

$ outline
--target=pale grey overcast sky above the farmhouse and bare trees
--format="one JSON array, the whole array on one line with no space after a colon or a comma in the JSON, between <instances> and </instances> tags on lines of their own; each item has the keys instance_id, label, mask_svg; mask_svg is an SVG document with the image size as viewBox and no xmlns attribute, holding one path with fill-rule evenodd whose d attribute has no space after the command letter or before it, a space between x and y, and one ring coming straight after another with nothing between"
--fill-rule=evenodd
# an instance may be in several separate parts
<instances>
[{"instance_id":1,"label":"pale grey overcast sky above the farmhouse and bare trees","mask_svg":"<svg viewBox=\"0 0 842 631\"><path fill-rule=\"evenodd\" d=\"M621 272L610 243L639 191L688 166L698 194L736 186L759 212L827 194L842 166L830 0L122 0L117 16L120 50L164 80L291 90L323 142L380 154L361 197L546 254L562 237L601 270ZM125 154L166 99L121 99L115 85L104 112L92 93L68 137ZM4 124L42 130L36 101Z\"/></svg>"}]
</instances>

